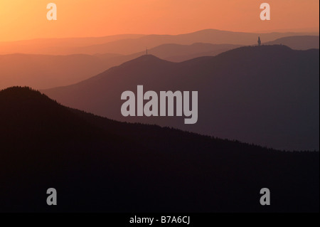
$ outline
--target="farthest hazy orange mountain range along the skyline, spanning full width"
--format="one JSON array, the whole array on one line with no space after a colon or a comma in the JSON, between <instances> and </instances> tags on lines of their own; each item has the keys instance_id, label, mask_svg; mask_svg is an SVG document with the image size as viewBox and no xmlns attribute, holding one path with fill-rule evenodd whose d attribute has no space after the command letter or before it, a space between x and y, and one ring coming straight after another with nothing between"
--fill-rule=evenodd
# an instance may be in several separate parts
<instances>
[{"instance_id":1,"label":"farthest hazy orange mountain range along the skyline, spanning full width","mask_svg":"<svg viewBox=\"0 0 320 227\"><path fill-rule=\"evenodd\" d=\"M262 38L262 43L285 36L319 36L318 33L243 33L206 29L180 35L117 35L97 38L45 38L29 41L1 42L0 54L28 53L45 55L117 53L129 55L166 43L191 45L192 43L252 45Z\"/></svg>"}]
</instances>

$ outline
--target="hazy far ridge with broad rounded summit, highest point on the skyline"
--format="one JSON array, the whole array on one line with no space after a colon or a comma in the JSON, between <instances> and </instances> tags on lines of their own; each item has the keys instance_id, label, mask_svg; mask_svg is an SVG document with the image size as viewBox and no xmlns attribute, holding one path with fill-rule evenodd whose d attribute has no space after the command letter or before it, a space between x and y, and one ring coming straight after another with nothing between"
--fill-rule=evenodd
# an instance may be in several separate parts
<instances>
[{"instance_id":1,"label":"hazy far ridge with broad rounded summit, highest point on the skyline","mask_svg":"<svg viewBox=\"0 0 320 227\"><path fill-rule=\"evenodd\" d=\"M252 45L252 41L256 41L260 36L263 42L274 41L274 39L285 36L319 36L319 33L244 33L233 31L220 31L216 29L206 29L193 33L186 33L176 36L169 35L148 35L140 38L129 38L124 40L112 41L108 43L84 46L75 48L76 53L120 53L132 54L136 53L146 46L154 48L161 44L176 43L190 45L192 43L213 43L234 45Z\"/></svg>"}]
</instances>

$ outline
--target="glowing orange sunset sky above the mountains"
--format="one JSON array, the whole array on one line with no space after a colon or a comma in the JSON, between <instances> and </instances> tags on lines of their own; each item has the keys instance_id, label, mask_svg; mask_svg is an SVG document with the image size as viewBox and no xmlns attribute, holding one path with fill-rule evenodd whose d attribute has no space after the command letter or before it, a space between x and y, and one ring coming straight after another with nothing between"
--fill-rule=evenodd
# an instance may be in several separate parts
<instances>
[{"instance_id":1,"label":"glowing orange sunset sky above the mountains","mask_svg":"<svg viewBox=\"0 0 320 227\"><path fill-rule=\"evenodd\" d=\"M46 5L57 4L58 21ZM260 4L271 21L260 20ZM0 0L0 41L228 31L319 31L319 0Z\"/></svg>"}]
</instances>

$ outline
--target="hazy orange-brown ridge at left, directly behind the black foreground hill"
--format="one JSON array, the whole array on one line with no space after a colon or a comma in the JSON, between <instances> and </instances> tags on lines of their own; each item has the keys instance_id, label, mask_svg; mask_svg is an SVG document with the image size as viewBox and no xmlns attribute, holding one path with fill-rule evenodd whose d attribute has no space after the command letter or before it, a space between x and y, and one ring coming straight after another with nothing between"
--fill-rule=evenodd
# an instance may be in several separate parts
<instances>
[{"instance_id":1,"label":"hazy orange-brown ridge at left, directly behind the black foreground hill","mask_svg":"<svg viewBox=\"0 0 320 227\"><path fill-rule=\"evenodd\" d=\"M0 55L0 89L13 85L45 89L78 83L109 68L110 58L117 55Z\"/></svg>"}]
</instances>

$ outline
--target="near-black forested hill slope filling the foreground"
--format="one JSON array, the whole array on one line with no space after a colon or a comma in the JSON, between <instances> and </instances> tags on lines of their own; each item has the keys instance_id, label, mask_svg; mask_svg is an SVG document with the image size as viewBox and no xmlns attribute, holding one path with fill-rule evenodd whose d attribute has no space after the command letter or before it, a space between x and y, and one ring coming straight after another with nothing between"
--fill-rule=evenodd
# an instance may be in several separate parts
<instances>
[{"instance_id":1,"label":"near-black forested hill slope filling the foreground","mask_svg":"<svg viewBox=\"0 0 320 227\"><path fill-rule=\"evenodd\" d=\"M0 211L319 212L319 152L116 122L30 88L1 90L0 107Z\"/></svg>"}]
</instances>

